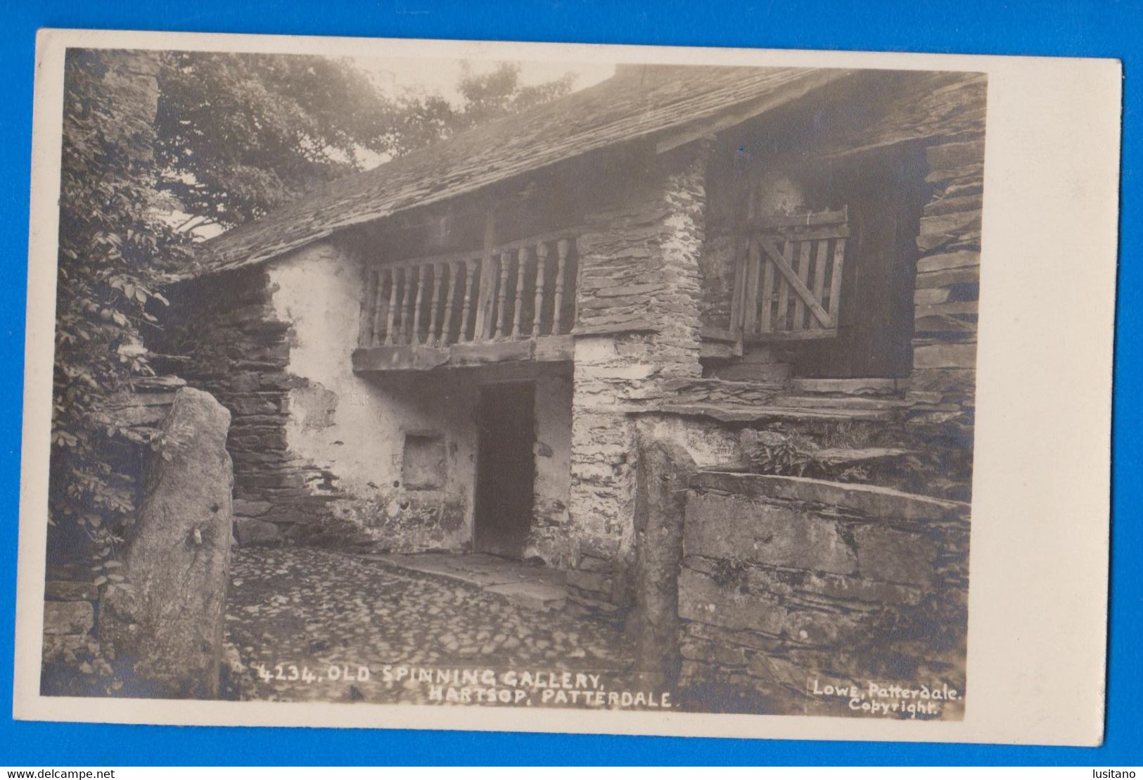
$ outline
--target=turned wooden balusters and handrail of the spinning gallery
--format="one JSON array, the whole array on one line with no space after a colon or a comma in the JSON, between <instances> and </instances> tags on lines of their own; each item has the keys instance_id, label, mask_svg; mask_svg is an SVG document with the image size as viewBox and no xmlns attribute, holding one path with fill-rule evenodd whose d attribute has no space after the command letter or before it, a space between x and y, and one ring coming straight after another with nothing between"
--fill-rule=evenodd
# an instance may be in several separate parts
<instances>
[{"instance_id":1,"label":"turned wooden balusters and handrail of the spinning gallery","mask_svg":"<svg viewBox=\"0 0 1143 780\"><path fill-rule=\"evenodd\" d=\"M358 343L448 347L557 336L575 319L577 256L567 233L366 271Z\"/></svg>"}]
</instances>

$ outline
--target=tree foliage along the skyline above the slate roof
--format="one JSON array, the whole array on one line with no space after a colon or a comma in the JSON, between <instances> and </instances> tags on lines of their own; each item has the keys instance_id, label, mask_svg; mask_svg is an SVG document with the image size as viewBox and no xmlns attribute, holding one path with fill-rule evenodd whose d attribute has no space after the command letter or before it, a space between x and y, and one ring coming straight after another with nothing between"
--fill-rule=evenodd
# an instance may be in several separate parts
<instances>
[{"instance_id":1,"label":"tree foliage along the skyline above the slate roof","mask_svg":"<svg viewBox=\"0 0 1143 780\"><path fill-rule=\"evenodd\" d=\"M389 96L352 63L319 56L170 51L159 72L155 154L192 218L230 228L362 167L570 90L573 74L520 82L519 65L465 67L459 104Z\"/></svg>"}]
</instances>

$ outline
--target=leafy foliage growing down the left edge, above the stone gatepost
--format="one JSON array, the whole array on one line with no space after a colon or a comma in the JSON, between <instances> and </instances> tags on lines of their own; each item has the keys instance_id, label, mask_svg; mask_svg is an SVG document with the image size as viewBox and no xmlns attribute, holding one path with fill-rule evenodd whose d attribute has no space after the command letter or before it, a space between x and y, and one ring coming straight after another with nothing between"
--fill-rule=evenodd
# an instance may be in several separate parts
<instances>
[{"instance_id":1,"label":"leafy foliage growing down the left edge, above the stone gatepost","mask_svg":"<svg viewBox=\"0 0 1143 780\"><path fill-rule=\"evenodd\" d=\"M151 55L78 49L65 65L50 516L104 558L115 523L134 510L131 477L109 453L139 435L102 404L152 373L141 331L155 321L147 304L166 302L157 261L189 254L186 238L161 218L154 69Z\"/></svg>"}]
</instances>

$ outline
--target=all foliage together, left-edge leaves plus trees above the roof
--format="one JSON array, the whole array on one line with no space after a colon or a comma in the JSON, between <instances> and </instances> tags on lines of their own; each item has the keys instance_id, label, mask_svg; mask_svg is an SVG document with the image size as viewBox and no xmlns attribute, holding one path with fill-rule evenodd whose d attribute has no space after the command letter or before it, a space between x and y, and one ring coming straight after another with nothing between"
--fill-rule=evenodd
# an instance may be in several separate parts
<instances>
[{"instance_id":1,"label":"all foliage together, left-edge leaves plus trees above the roof","mask_svg":"<svg viewBox=\"0 0 1143 780\"><path fill-rule=\"evenodd\" d=\"M521 86L519 67L465 71L454 105L386 96L345 61L315 56L71 49L64 83L50 518L53 548L113 579L134 512L119 445L157 445L106 401L153 374L161 273L192 262L193 229L256 218L359 169L570 89ZM173 213L190 218L182 225ZM149 308L151 311L149 311ZM155 431L157 433L157 431ZM115 587L114 583L111 587ZM119 586L122 587L122 586Z\"/></svg>"}]
</instances>

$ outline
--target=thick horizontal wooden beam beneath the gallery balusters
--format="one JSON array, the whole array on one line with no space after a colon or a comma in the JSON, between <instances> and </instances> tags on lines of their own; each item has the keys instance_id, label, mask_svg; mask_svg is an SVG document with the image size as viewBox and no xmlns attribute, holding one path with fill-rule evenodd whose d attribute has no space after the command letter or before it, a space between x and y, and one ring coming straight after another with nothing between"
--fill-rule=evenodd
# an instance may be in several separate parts
<instances>
[{"instance_id":1,"label":"thick horizontal wooden beam beneath the gallery balusters","mask_svg":"<svg viewBox=\"0 0 1143 780\"><path fill-rule=\"evenodd\" d=\"M572 360L572 336L541 336L486 341L449 347L361 347L353 350L353 372L374 374L392 371L432 371L485 366L496 363L567 363Z\"/></svg>"}]
</instances>

